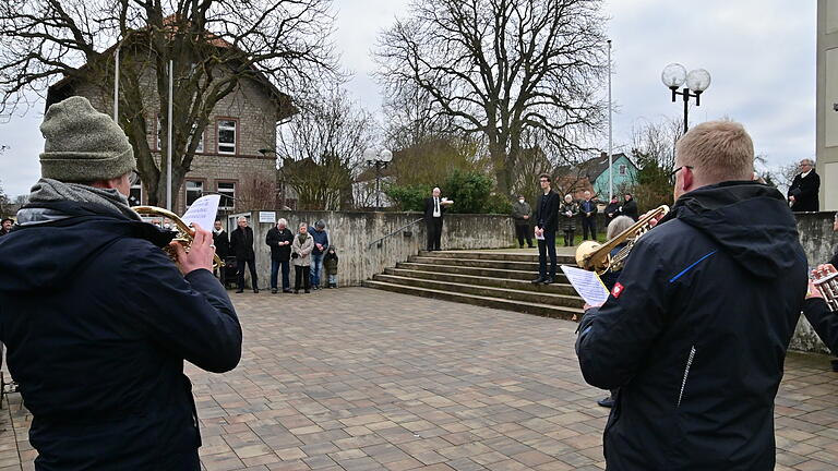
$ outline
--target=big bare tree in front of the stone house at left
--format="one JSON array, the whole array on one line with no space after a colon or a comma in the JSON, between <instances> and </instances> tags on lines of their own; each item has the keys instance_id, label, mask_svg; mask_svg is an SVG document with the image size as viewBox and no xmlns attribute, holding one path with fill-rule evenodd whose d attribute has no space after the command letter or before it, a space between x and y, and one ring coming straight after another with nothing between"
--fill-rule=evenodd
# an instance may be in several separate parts
<instances>
[{"instance_id":1,"label":"big bare tree in front of the stone house at left","mask_svg":"<svg viewBox=\"0 0 838 471\"><path fill-rule=\"evenodd\" d=\"M98 86L107 96L119 51L119 122L134 147L149 203L158 204L165 200L167 168L149 148L154 123L148 120L160 117L160 155L166 155L169 61L177 189L223 98L250 81L274 87L277 100L287 101L279 89L295 93L336 72L331 29L328 0L5 0L0 112L28 106L33 93L44 97L61 76Z\"/></svg>"}]
</instances>

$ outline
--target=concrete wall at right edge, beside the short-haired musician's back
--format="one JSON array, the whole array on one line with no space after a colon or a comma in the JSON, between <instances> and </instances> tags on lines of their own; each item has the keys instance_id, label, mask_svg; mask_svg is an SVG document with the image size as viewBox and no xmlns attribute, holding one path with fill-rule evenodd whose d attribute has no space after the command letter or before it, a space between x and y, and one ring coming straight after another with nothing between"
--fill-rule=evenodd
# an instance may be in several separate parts
<instances>
[{"instance_id":1,"label":"concrete wall at right edge, beside the short-haired musician's back","mask_svg":"<svg viewBox=\"0 0 838 471\"><path fill-rule=\"evenodd\" d=\"M800 243L806 252L810 267L814 268L829 261L833 254L838 251L838 232L833 231L835 213L801 213L795 214L795 216L800 231ZM829 351L803 316L800 317L790 348L819 353Z\"/></svg>"}]
</instances>

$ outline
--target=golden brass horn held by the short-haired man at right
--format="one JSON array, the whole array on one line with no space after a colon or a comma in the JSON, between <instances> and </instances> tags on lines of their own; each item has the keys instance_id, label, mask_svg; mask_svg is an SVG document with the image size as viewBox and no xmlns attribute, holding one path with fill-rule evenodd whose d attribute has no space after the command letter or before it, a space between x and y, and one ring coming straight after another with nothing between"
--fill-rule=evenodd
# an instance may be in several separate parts
<instances>
[{"instance_id":1,"label":"golden brass horn held by the short-haired man at right","mask_svg":"<svg viewBox=\"0 0 838 471\"><path fill-rule=\"evenodd\" d=\"M634 243L641 235L653 228L650 221L665 216L667 213L669 213L669 206L658 206L641 218L641 220L632 225L628 229L622 231L615 238L603 244L595 241L583 242L576 249L576 265L578 265L579 268L596 271L598 275L602 275L606 271L616 271L622 269ZM611 251L625 241L628 241L628 244L612 257Z\"/></svg>"}]
</instances>

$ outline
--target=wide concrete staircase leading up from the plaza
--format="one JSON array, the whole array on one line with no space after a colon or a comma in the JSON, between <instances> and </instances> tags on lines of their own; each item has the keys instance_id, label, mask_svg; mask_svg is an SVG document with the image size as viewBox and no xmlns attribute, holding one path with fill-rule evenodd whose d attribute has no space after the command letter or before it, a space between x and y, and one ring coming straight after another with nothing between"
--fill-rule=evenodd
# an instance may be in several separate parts
<instances>
[{"instance_id":1,"label":"wide concrete staircase leading up from the plaza","mask_svg":"<svg viewBox=\"0 0 838 471\"><path fill-rule=\"evenodd\" d=\"M560 255L559 264L574 265ZM386 268L364 286L547 317L571 319L583 300L560 274L554 285L536 286L538 255L513 251L420 252Z\"/></svg>"}]
</instances>

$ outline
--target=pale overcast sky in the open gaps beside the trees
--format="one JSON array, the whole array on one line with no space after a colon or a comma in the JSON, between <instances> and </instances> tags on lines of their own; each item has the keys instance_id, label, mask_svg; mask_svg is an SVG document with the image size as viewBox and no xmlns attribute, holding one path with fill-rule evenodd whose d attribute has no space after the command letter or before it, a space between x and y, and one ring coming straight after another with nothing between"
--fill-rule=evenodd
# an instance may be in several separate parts
<instances>
[{"instance_id":1,"label":"pale overcast sky in the open gaps beside the trees","mask_svg":"<svg viewBox=\"0 0 838 471\"><path fill-rule=\"evenodd\" d=\"M381 94L371 76L371 51L379 32L407 14L409 1L359 3L335 0L335 43L343 65L355 74L349 92L378 113ZM616 150L630 142L638 122L682 113L681 102L671 102L660 83L663 67L680 62L713 75L691 122L722 117L741 121L757 154L774 167L814 157L816 2L608 0L604 5L614 46ZM28 192L38 179L41 111L43 102L0 124L0 145L11 147L0 156L0 181L9 195Z\"/></svg>"}]
</instances>

